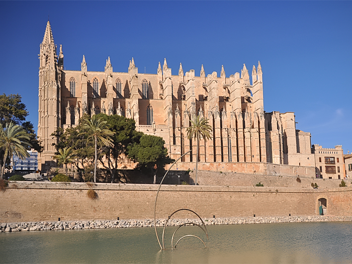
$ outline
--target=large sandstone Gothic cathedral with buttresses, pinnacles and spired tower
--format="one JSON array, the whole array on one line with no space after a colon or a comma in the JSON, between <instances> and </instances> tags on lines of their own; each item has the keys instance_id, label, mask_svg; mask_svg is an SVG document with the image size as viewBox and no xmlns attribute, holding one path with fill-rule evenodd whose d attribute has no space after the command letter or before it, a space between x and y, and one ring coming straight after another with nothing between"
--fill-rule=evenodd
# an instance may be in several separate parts
<instances>
[{"instance_id":1,"label":"large sandstone Gothic cathedral with buttresses, pinnacles and spired tower","mask_svg":"<svg viewBox=\"0 0 352 264\"><path fill-rule=\"evenodd\" d=\"M80 70L65 70L60 45L57 56L50 23L40 45L38 137L44 151L38 163L43 171L53 165L58 127L78 124L85 113L123 115L136 122L136 129L160 136L178 169L193 168L196 141L188 140L190 120L209 119L212 139L200 141L200 169L264 174L314 175L310 133L296 130L293 112L266 113L263 108L262 69L258 62L249 71L226 77L224 67L206 74L195 70L171 74L166 59L156 74L140 73L134 59L127 72L114 72L110 57L104 71L88 71L84 55Z\"/></svg>"}]
</instances>

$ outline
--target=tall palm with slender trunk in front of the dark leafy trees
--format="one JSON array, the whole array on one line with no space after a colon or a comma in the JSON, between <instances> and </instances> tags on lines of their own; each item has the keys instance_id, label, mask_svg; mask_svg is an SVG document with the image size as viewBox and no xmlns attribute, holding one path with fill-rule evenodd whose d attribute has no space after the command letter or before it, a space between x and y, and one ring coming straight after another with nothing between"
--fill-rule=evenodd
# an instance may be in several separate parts
<instances>
[{"instance_id":1,"label":"tall palm with slender trunk in front of the dark leafy trees","mask_svg":"<svg viewBox=\"0 0 352 264\"><path fill-rule=\"evenodd\" d=\"M94 115L91 119L86 118L83 128L86 129L87 132L83 134L87 134L87 140L94 139L94 146L95 146L95 160L94 160L94 182L96 183L96 175L97 175L97 145L104 145L104 146L113 146L112 138L110 136L114 135L114 132L108 129L107 121L104 121L102 118L97 117Z\"/></svg>"}]
</instances>

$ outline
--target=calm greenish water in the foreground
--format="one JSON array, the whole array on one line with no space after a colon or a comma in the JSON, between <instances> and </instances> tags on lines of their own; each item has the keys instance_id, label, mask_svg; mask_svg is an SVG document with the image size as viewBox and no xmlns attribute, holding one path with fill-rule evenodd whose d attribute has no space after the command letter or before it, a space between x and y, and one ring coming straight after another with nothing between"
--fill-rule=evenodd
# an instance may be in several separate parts
<instances>
[{"instance_id":1,"label":"calm greenish water in the foreground","mask_svg":"<svg viewBox=\"0 0 352 264\"><path fill-rule=\"evenodd\" d=\"M153 228L0 233L1 263L352 263L352 223L208 226L159 250ZM174 227L166 228L171 247ZM159 232L161 233L162 230ZM175 236L194 234L182 227ZM161 234L160 234L161 237Z\"/></svg>"}]
</instances>

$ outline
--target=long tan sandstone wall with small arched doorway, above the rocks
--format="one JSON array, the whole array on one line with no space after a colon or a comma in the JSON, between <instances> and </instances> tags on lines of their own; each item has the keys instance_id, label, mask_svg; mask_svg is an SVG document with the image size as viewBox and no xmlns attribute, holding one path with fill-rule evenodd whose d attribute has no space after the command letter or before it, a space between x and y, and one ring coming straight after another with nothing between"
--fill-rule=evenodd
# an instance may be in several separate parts
<instances>
[{"instance_id":1,"label":"long tan sandstone wall with small arched doorway, above the rocks","mask_svg":"<svg viewBox=\"0 0 352 264\"><path fill-rule=\"evenodd\" d=\"M152 218L157 186L97 184L98 199L86 196L81 183L13 182L0 192L0 222L113 220ZM318 199L327 199L327 214L352 215L352 188L169 186L161 187L156 217L188 208L201 217L318 215ZM180 212L175 218L195 218Z\"/></svg>"}]
</instances>

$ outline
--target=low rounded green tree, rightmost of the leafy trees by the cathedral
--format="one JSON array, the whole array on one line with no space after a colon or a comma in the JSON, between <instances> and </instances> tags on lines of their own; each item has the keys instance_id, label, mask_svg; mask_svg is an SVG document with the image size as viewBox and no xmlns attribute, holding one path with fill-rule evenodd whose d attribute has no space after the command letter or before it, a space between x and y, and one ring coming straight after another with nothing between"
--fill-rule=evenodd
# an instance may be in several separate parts
<instances>
[{"instance_id":1,"label":"low rounded green tree, rightmost of the leafy trees by the cathedral","mask_svg":"<svg viewBox=\"0 0 352 264\"><path fill-rule=\"evenodd\" d=\"M153 184L156 184L156 173L158 168L163 168L166 164L174 162L167 155L164 147L165 141L161 137L143 135L140 143L128 146L128 157L138 162L140 169L147 168L154 175Z\"/></svg>"}]
</instances>

